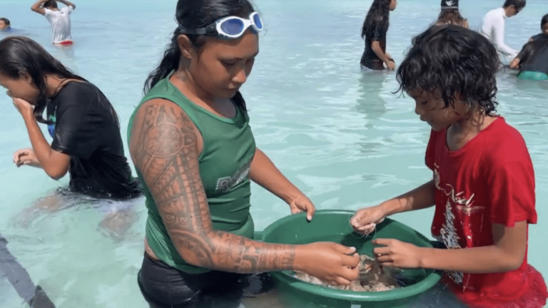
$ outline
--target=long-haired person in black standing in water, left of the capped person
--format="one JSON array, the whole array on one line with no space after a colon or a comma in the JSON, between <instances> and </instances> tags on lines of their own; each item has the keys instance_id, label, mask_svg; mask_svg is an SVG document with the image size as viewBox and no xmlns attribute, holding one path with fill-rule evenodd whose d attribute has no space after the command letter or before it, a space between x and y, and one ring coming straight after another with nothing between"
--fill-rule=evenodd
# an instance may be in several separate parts
<instances>
[{"instance_id":1,"label":"long-haired person in black standing in water, left of the capped person","mask_svg":"<svg viewBox=\"0 0 548 308\"><path fill-rule=\"evenodd\" d=\"M392 56L386 52L388 16L396 6L397 0L374 0L371 4L362 26L362 39L365 40L365 51L360 61L362 68L383 70L382 63L390 70L396 67Z\"/></svg>"}]
</instances>

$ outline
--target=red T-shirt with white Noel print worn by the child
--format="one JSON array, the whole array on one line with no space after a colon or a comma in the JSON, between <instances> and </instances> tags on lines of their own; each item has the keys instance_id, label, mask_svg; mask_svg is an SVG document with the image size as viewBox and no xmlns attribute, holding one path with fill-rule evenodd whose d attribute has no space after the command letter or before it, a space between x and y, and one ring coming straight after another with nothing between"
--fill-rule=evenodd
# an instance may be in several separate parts
<instances>
[{"instance_id":1,"label":"red T-shirt with white Noel print worn by the child","mask_svg":"<svg viewBox=\"0 0 548 308\"><path fill-rule=\"evenodd\" d=\"M447 130L432 131L426 165L436 186L432 235L448 249L493 245L492 224L537 223L534 170L522 135L498 117L462 148L447 148ZM472 307L544 307L542 275L527 264L494 274L446 272Z\"/></svg>"}]
</instances>

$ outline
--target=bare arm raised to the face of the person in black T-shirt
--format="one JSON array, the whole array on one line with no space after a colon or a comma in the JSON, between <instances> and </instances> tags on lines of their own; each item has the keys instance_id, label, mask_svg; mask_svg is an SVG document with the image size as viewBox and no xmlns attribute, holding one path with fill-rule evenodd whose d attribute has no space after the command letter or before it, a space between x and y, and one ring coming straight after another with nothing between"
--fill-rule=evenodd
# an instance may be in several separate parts
<instances>
[{"instance_id":1,"label":"bare arm raised to the face of the person in black T-shirt","mask_svg":"<svg viewBox=\"0 0 548 308\"><path fill-rule=\"evenodd\" d=\"M51 149L38 123L36 123L31 108L22 112L22 115L25 120L26 130L29 132L34 155L36 155L41 168L54 180L63 178L68 172L71 157Z\"/></svg>"}]
</instances>

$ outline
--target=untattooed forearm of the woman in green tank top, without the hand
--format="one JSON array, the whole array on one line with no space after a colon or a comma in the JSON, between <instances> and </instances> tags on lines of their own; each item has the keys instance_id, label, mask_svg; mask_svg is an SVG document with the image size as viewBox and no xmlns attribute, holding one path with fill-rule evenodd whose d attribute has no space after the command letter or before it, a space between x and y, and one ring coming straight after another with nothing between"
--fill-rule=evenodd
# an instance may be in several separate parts
<instances>
[{"instance_id":1,"label":"untattooed forearm of the woman in green tank top, without the hand","mask_svg":"<svg viewBox=\"0 0 548 308\"><path fill-rule=\"evenodd\" d=\"M250 177L253 182L290 204L303 193L276 168L272 160L258 148L251 162Z\"/></svg>"}]
</instances>

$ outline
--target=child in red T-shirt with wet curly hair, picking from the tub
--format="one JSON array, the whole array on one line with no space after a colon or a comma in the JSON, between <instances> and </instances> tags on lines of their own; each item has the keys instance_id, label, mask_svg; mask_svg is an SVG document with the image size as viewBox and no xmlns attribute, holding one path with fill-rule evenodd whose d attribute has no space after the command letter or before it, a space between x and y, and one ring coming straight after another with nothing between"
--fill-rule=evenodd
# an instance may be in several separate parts
<instances>
[{"instance_id":1,"label":"child in red T-shirt with wet curly hair, picking from the tub","mask_svg":"<svg viewBox=\"0 0 548 308\"><path fill-rule=\"evenodd\" d=\"M522 135L495 114L498 68L496 49L475 31L434 26L413 39L397 81L432 127L433 180L350 222L367 234L388 215L435 205L432 235L447 249L374 240L383 265L444 270L470 307L541 308L547 287L527 264L528 225L537 222L533 165Z\"/></svg>"}]
</instances>

